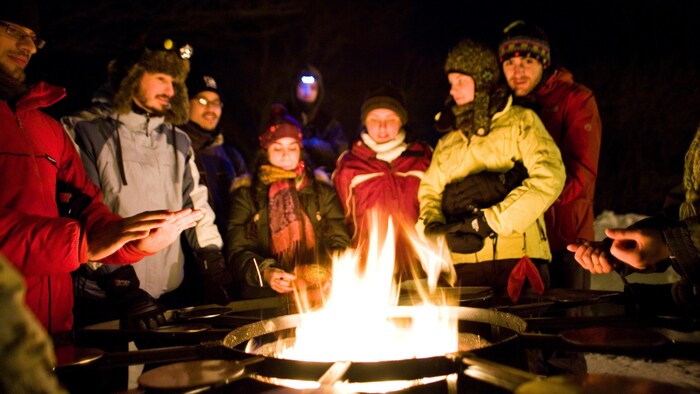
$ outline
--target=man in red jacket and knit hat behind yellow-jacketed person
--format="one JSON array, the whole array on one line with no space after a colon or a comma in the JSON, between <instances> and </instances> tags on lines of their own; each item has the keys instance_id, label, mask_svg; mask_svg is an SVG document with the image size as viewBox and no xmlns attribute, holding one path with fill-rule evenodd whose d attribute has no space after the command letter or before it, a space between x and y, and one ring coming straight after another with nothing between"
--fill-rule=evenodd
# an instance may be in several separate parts
<instances>
[{"instance_id":1,"label":"man in red jacket and knit hat behind yellow-jacketed person","mask_svg":"<svg viewBox=\"0 0 700 394\"><path fill-rule=\"evenodd\" d=\"M566 183L545 213L552 250L552 287L589 288L590 275L576 263L566 245L592 241L593 195L598 175L602 125L593 92L574 82L571 73L552 65L549 40L523 21L503 31L498 47L514 103L533 109L561 151Z\"/></svg>"}]
</instances>

